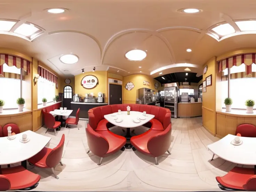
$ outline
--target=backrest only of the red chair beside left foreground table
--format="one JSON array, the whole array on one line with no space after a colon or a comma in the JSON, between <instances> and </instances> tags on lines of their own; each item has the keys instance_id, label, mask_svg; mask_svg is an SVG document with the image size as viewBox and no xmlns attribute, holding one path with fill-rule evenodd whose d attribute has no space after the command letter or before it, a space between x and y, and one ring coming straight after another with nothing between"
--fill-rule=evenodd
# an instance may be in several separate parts
<instances>
[{"instance_id":1,"label":"backrest only of the red chair beside left foreground table","mask_svg":"<svg viewBox=\"0 0 256 192\"><path fill-rule=\"evenodd\" d=\"M50 168L53 168L59 164L61 161L63 149L64 149L65 135L61 137L59 144L49 153L46 158L46 165Z\"/></svg>"}]
</instances>

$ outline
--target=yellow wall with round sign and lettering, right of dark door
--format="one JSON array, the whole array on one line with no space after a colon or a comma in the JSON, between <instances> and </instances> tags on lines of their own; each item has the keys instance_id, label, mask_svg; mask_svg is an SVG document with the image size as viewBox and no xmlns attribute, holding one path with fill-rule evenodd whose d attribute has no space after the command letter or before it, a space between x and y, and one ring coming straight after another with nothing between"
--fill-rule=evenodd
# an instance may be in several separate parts
<instances>
[{"instance_id":1,"label":"yellow wall with round sign and lettering, right of dark door","mask_svg":"<svg viewBox=\"0 0 256 192\"><path fill-rule=\"evenodd\" d=\"M150 86L143 85L143 81L149 81ZM128 82L132 82L134 84L134 88L130 91L126 90L125 85ZM136 95L137 95L137 89L140 88L149 88L155 90L155 83L158 82L157 80L151 78L148 75L142 75L142 74L136 74L136 75L129 75L126 77L123 77L123 103L136 103ZM161 83L159 83L158 90L163 90L163 87L161 87ZM155 90L158 92L158 90Z\"/></svg>"}]
</instances>

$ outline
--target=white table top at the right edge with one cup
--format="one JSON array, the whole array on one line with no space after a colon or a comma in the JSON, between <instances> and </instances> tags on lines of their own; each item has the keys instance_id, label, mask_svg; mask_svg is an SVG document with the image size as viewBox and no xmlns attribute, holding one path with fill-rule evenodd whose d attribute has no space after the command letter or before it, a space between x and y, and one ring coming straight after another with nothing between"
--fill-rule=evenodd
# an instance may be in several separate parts
<instances>
[{"instance_id":1,"label":"white table top at the right edge with one cup","mask_svg":"<svg viewBox=\"0 0 256 192\"><path fill-rule=\"evenodd\" d=\"M243 143L235 146L230 143L235 137L229 134L208 145L208 149L224 160L241 165L256 165L256 138L240 137Z\"/></svg>"}]
</instances>

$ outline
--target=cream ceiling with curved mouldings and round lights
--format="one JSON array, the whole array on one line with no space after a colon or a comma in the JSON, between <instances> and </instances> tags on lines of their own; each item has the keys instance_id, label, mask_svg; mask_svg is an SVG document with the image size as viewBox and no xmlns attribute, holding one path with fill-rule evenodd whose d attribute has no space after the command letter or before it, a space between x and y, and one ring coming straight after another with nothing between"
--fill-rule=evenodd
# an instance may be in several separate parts
<instances>
[{"instance_id":1,"label":"cream ceiling with curved mouldings and round lights","mask_svg":"<svg viewBox=\"0 0 256 192\"><path fill-rule=\"evenodd\" d=\"M62 14L45 9L66 8ZM182 8L199 8L196 14ZM0 18L30 22L44 29L32 42L1 34L0 47L16 49L51 67L59 75L77 75L81 69L119 70L121 75L150 72L171 64L190 63L191 72L212 56L238 48L255 47L256 34L237 35L218 41L207 30L221 22L255 19L255 0L0 0ZM186 49L192 52L186 52ZM125 58L132 49L147 50L143 61ZM76 64L63 64L59 57L73 53ZM138 66L142 66L141 69ZM174 67L163 71L184 71ZM69 72L64 72L69 70ZM142 71L142 72L140 72ZM128 73L130 72L130 73ZM158 73L153 77L157 77Z\"/></svg>"}]
</instances>

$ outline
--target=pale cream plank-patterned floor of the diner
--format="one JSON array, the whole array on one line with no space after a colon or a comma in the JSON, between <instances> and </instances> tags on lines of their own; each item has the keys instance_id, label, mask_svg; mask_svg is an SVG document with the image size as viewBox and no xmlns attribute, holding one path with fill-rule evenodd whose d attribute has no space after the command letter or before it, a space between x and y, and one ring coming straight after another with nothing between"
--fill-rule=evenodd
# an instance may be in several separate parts
<instances>
[{"instance_id":1,"label":"pale cream plank-patterned floor of the diner","mask_svg":"<svg viewBox=\"0 0 256 192\"><path fill-rule=\"evenodd\" d=\"M86 121L79 121L79 128L62 128L57 136L53 131L45 134L45 128L37 133L50 136L47 147L55 147L65 134L63 166L55 170L55 179L50 169L28 166L41 175L35 191L221 191L215 177L223 176L236 164L215 156L207 145L216 141L203 127L201 118L172 119L171 155L159 157L159 165L154 159L137 151L125 150L103 159L88 151L85 127ZM123 133L122 128L111 131ZM139 134L144 127L135 129Z\"/></svg>"}]
</instances>

